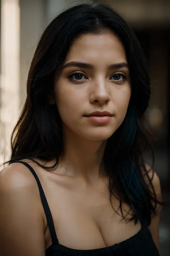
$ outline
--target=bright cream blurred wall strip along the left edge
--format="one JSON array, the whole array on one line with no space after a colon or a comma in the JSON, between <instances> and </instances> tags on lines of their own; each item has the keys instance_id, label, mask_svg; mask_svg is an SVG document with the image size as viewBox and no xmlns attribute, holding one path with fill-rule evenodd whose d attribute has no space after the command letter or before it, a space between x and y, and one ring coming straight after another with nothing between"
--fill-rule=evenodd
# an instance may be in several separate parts
<instances>
[{"instance_id":1,"label":"bright cream blurred wall strip along the left edge","mask_svg":"<svg viewBox=\"0 0 170 256\"><path fill-rule=\"evenodd\" d=\"M1 0L0 164L10 155L19 108L19 0Z\"/></svg>"}]
</instances>

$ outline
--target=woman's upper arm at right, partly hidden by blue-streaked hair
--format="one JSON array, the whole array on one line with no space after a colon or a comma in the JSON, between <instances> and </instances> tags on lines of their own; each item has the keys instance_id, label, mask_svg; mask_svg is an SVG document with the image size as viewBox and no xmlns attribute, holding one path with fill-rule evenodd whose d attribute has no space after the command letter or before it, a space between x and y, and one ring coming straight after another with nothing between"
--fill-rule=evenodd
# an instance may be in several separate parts
<instances>
[{"instance_id":1,"label":"woman's upper arm at right, partly hidden by blue-streaked hair","mask_svg":"<svg viewBox=\"0 0 170 256\"><path fill-rule=\"evenodd\" d=\"M155 171L151 169L150 166L146 165L146 170L148 171L148 175L152 178L152 185L155 190L156 199L158 201L162 201L161 196L161 185L160 179ZM152 191L152 188L150 188ZM151 224L148 226L148 229L151 232L152 239L156 244L157 249L159 250L159 223L160 223L160 216L161 216L161 205L157 205L156 207L156 215L151 216Z\"/></svg>"}]
</instances>

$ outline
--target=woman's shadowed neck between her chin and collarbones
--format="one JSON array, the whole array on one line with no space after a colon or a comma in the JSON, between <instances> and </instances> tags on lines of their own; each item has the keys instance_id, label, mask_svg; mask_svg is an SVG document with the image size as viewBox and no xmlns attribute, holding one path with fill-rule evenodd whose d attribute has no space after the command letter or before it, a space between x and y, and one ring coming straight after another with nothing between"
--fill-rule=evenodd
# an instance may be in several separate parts
<instances>
[{"instance_id":1,"label":"woman's shadowed neck between her chin and collarbones","mask_svg":"<svg viewBox=\"0 0 170 256\"><path fill-rule=\"evenodd\" d=\"M64 153L59 166L88 182L103 176L103 154L106 141L91 141L77 134L67 134L63 139Z\"/></svg>"}]
</instances>

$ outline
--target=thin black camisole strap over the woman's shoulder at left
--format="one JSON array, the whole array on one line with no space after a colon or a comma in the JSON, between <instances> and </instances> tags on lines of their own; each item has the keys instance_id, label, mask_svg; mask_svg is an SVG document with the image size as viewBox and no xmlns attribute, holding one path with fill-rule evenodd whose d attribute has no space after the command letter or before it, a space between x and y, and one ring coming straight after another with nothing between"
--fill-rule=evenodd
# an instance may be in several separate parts
<instances>
[{"instance_id":1,"label":"thin black camisole strap over the woman's shoulder at left","mask_svg":"<svg viewBox=\"0 0 170 256\"><path fill-rule=\"evenodd\" d=\"M57 239L57 235L56 235L56 230L55 230L55 226L54 226L52 214L51 214L51 211L50 211L50 209L49 209L46 196L45 196L45 194L44 194L42 185L41 185L41 183L40 183L40 181L39 181L39 178L38 178L36 172L34 171L34 169L33 169L28 163L25 163L25 162L23 162L23 161L16 161L16 162L13 162L13 163L22 163L22 164L25 165L25 166L30 170L30 172L32 172L32 174L34 175L34 178L35 178L36 181L37 181L37 185L38 185L38 189L39 189L39 193L40 193L42 205L43 205L43 208L44 208L44 212L45 212L45 214L46 214L47 224L48 224L49 232L50 232L50 235L51 235L52 244L58 243L58 239Z\"/></svg>"}]
</instances>

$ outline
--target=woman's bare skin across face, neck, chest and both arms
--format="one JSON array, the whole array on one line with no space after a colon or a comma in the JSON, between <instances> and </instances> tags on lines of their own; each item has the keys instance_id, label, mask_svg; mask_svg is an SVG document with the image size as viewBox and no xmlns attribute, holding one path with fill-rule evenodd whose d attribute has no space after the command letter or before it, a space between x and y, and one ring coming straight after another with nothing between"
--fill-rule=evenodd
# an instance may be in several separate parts
<instances>
[{"instance_id":1,"label":"woman's bare skin across face, neck, chest and both arms","mask_svg":"<svg viewBox=\"0 0 170 256\"><path fill-rule=\"evenodd\" d=\"M109 70L108 65L127 63L126 54L112 33L89 34L72 44L65 64L72 61L90 63L94 68L67 67L56 77L55 94L49 100L57 104L63 121L64 153L59 166L46 171L24 161L34 168L41 181L59 243L75 249L108 247L141 229L140 223L127 222L131 211L119 223L120 211L115 214L119 202L112 199L113 210L108 177L103 175L102 166L105 142L123 122L131 96L128 68ZM68 78L74 71L83 72L82 81ZM121 82L115 81L116 72L127 78L123 80L121 76ZM91 123L84 115L96 110L109 111L113 117L105 124ZM160 195L156 173L153 185ZM51 237L36 180L27 167L13 163L0 172L0 205L1 255L44 256ZM128 205L123 207L129 210ZM154 217L150 231L157 247L158 226L159 217Z\"/></svg>"}]
</instances>

